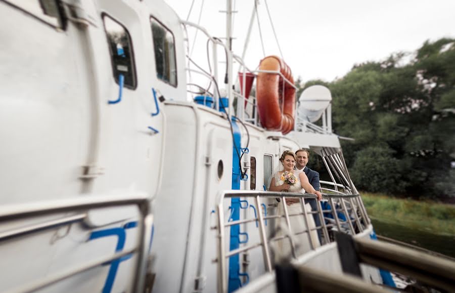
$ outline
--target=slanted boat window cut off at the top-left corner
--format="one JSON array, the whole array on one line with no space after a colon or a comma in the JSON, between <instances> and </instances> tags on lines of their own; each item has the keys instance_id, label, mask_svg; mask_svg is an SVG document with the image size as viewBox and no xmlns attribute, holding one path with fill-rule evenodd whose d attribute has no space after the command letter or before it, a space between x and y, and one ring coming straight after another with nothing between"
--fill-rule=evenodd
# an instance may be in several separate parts
<instances>
[{"instance_id":1,"label":"slanted boat window cut off at the top-left corner","mask_svg":"<svg viewBox=\"0 0 455 293\"><path fill-rule=\"evenodd\" d=\"M63 27L58 0L5 0L5 2L47 24Z\"/></svg>"}]
</instances>

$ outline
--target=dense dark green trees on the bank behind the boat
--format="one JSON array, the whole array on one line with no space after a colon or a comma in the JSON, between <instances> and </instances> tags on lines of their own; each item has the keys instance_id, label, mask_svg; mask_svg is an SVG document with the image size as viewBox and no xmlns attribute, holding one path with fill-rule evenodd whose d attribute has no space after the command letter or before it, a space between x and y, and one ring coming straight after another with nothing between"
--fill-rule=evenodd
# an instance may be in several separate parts
<instances>
[{"instance_id":1,"label":"dense dark green trees on the bank behind the boat","mask_svg":"<svg viewBox=\"0 0 455 293\"><path fill-rule=\"evenodd\" d=\"M355 65L325 85L333 97L334 131L355 139L342 146L359 188L455 196L455 39Z\"/></svg>"}]
</instances>

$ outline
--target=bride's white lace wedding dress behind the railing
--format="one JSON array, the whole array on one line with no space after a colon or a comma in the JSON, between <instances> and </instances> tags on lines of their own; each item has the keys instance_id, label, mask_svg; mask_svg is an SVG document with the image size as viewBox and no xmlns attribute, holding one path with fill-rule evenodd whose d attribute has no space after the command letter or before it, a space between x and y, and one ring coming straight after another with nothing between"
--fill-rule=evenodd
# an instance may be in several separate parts
<instances>
[{"instance_id":1,"label":"bride's white lace wedding dress behind the railing","mask_svg":"<svg viewBox=\"0 0 455 293\"><path fill-rule=\"evenodd\" d=\"M293 173L295 177L297 178L297 181L294 185L291 185L291 188L289 189L288 192L293 192L293 193L305 193L305 190L302 188L302 185L300 183L300 178L299 174L301 171L294 170ZM283 185L284 181L281 180L281 174L283 172L279 171L274 174L275 177L275 186ZM300 202L293 203L291 205L286 205L287 210L288 210L288 215L292 214L298 214L302 213L302 205ZM311 206L309 203L305 204L305 210L308 213L306 216L308 226L310 229L315 228L316 225L314 224L314 219L309 214L311 212ZM278 203L278 215L285 215L284 213L284 208L283 208L283 202ZM291 232L292 233L299 233L304 230L306 230L306 225L305 225L305 218L303 218L303 215L298 215L298 216L290 216L289 217L289 222L291 225ZM287 234L287 224L286 224L286 218L281 218L280 221L276 222L276 228L279 228L279 233L277 235L285 235ZM311 242L313 243L313 247L320 246L319 238L317 237L317 232L316 230L313 230L310 232L311 234ZM294 236L294 246L296 247L296 254L297 256L302 255L306 252L309 252L311 250L310 242L309 242L309 237L308 237L308 232L304 233L299 233L298 235ZM278 250L275 254L275 259L278 261L283 258L288 258L292 257L292 250L291 250L291 244L289 241L289 238L285 238L283 240L278 240Z\"/></svg>"}]
</instances>

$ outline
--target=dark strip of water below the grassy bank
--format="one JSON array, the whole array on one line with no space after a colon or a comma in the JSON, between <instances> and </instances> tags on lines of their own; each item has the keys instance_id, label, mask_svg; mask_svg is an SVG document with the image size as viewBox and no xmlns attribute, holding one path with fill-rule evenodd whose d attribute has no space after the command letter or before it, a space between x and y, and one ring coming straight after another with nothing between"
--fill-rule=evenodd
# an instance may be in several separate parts
<instances>
[{"instance_id":1,"label":"dark strip of water below the grassy bank","mask_svg":"<svg viewBox=\"0 0 455 293\"><path fill-rule=\"evenodd\" d=\"M423 247L455 258L455 235L439 235L428 231L371 219L376 234Z\"/></svg>"}]
</instances>

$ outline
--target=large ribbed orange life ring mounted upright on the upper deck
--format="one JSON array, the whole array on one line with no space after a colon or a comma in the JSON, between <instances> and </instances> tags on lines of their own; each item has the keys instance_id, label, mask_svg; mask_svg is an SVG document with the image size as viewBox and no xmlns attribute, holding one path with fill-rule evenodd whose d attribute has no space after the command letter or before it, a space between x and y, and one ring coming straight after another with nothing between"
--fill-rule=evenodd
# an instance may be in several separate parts
<instances>
[{"instance_id":1,"label":"large ribbed orange life ring mounted upright on the upper deck","mask_svg":"<svg viewBox=\"0 0 455 293\"><path fill-rule=\"evenodd\" d=\"M279 71L294 85L291 69L277 56L261 60L259 70ZM267 130L287 134L294 129L295 89L276 73L259 72L256 81L256 96L259 118ZM283 103L283 112L281 110Z\"/></svg>"}]
</instances>

